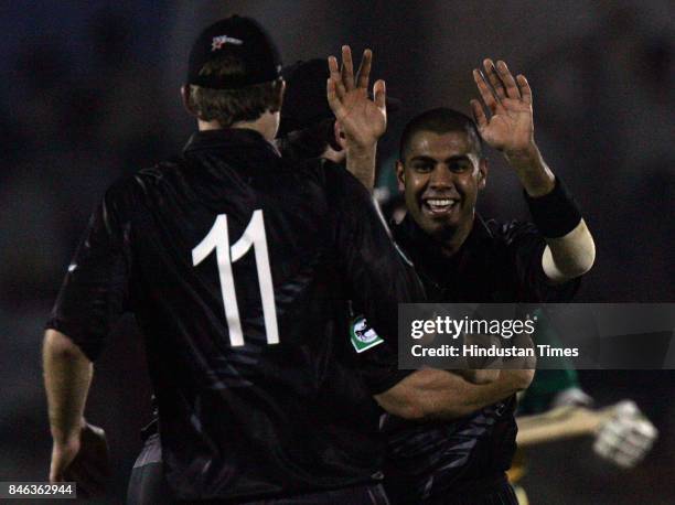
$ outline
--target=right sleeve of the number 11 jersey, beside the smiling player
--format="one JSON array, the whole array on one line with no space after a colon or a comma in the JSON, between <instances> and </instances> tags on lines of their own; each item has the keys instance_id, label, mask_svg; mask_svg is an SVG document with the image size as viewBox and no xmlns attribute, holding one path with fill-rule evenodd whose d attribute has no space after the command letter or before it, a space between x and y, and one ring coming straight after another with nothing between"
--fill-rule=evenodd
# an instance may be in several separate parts
<instances>
[{"instance_id":1,"label":"right sleeve of the number 11 jersey, beside the smiling player","mask_svg":"<svg viewBox=\"0 0 675 505\"><path fill-rule=\"evenodd\" d=\"M424 302L424 289L366 189L346 170L326 169L341 272L378 337L378 345L357 350L366 384L378 394L413 372L398 369L398 303Z\"/></svg>"}]
</instances>

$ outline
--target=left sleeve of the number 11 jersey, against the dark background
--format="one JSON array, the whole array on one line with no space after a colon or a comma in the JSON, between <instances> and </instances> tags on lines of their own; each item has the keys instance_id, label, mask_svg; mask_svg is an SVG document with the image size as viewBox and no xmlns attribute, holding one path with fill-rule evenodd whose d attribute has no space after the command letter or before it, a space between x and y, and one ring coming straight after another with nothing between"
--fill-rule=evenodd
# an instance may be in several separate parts
<instances>
[{"instance_id":1,"label":"left sleeve of the number 11 jersey, against the dark background","mask_svg":"<svg viewBox=\"0 0 675 505\"><path fill-rule=\"evenodd\" d=\"M46 323L75 342L90 361L100 354L128 299L130 227L120 224L111 193L92 215Z\"/></svg>"}]
</instances>

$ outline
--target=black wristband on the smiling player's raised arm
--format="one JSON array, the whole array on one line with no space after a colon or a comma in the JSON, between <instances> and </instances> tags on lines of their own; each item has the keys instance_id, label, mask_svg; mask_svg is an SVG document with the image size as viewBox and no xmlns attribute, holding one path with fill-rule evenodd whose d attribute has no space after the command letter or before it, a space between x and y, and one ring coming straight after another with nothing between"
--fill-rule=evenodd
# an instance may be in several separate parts
<instances>
[{"instance_id":1,"label":"black wristband on the smiling player's raised arm","mask_svg":"<svg viewBox=\"0 0 675 505\"><path fill-rule=\"evenodd\" d=\"M525 192L525 200L534 224L546 238L564 237L581 221L579 205L558 176L550 193L535 198Z\"/></svg>"}]
</instances>

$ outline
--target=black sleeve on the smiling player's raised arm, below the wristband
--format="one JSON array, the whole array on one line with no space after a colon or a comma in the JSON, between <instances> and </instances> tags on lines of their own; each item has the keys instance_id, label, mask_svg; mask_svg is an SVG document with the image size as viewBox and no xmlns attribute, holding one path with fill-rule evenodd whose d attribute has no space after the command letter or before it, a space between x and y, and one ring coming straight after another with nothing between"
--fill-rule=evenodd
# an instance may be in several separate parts
<instances>
[{"instance_id":1,"label":"black sleeve on the smiling player's raised arm, below the wristband","mask_svg":"<svg viewBox=\"0 0 675 505\"><path fill-rule=\"evenodd\" d=\"M542 264L546 240L534 224L512 222L502 225L500 232L515 266L515 275L525 301L562 303L574 298L581 284L581 278L558 284L550 282Z\"/></svg>"}]
</instances>

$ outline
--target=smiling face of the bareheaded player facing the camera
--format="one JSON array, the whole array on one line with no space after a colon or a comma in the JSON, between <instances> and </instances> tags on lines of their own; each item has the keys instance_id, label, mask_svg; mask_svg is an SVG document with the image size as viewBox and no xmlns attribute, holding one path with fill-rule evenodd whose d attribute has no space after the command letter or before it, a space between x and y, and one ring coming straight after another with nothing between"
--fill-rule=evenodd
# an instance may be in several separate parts
<instances>
[{"instance_id":1,"label":"smiling face of the bareheaded player facing the camera","mask_svg":"<svg viewBox=\"0 0 675 505\"><path fill-rule=\"evenodd\" d=\"M468 130L420 130L410 137L404 160L396 165L408 212L439 240L465 238L473 225L478 192L488 173L478 142Z\"/></svg>"}]
</instances>

